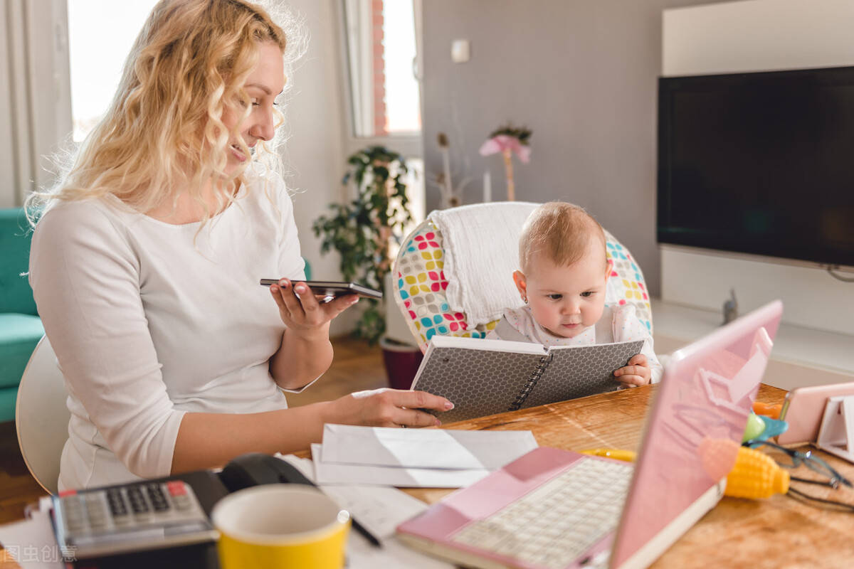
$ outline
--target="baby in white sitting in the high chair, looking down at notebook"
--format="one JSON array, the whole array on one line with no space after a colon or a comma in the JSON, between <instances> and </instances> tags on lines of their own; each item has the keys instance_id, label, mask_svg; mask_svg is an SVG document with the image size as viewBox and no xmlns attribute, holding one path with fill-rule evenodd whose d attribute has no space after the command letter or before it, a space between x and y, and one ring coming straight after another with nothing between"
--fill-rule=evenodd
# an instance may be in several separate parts
<instances>
[{"instance_id":1,"label":"baby in white sitting in the high chair, looking down at notebook","mask_svg":"<svg viewBox=\"0 0 854 569\"><path fill-rule=\"evenodd\" d=\"M522 229L519 266L513 281L525 305L506 309L487 338L547 346L644 340L640 353L614 375L623 386L661 379L652 337L635 306L605 306L611 261L605 231L588 212L560 201L537 207Z\"/></svg>"}]
</instances>

